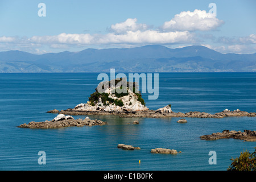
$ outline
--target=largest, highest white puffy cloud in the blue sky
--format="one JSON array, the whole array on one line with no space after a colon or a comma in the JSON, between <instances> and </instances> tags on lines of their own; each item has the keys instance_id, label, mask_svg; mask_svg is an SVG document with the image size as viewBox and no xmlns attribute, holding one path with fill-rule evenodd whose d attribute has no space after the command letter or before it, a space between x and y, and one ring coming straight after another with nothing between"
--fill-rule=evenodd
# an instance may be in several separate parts
<instances>
[{"instance_id":1,"label":"largest, highest white puffy cloud in the blue sky","mask_svg":"<svg viewBox=\"0 0 256 182\"><path fill-rule=\"evenodd\" d=\"M164 22L163 30L168 31L209 31L224 23L205 10L182 11L176 14L169 22Z\"/></svg>"}]
</instances>

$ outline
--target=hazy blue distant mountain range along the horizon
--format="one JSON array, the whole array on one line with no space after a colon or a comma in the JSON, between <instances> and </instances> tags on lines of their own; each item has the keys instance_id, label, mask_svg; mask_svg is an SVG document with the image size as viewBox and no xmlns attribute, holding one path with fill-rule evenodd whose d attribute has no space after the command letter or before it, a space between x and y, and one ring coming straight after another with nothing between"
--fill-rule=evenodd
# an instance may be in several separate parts
<instances>
[{"instance_id":1,"label":"hazy blue distant mountain range along the horizon","mask_svg":"<svg viewBox=\"0 0 256 182\"><path fill-rule=\"evenodd\" d=\"M256 53L222 54L204 46L85 49L34 55L0 52L0 73L14 72L256 72Z\"/></svg>"}]
</instances>

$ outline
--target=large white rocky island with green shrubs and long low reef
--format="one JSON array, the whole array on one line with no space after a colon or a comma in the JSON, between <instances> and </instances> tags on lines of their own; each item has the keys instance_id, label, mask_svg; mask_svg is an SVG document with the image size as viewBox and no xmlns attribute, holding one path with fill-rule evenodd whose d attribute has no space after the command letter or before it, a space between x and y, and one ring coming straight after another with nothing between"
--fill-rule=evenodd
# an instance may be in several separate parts
<instances>
[{"instance_id":1,"label":"large white rocky island with green shrubs and long low reef","mask_svg":"<svg viewBox=\"0 0 256 182\"><path fill-rule=\"evenodd\" d=\"M120 81L121 80L121 81ZM248 113L239 109L230 111L225 109L220 113L209 114L199 111L190 111L189 113L175 113L171 110L171 105L161 107L156 110L150 110L146 106L141 92L138 92L137 84L133 82L133 88L129 88L129 82L126 85L119 83L122 78L107 83L108 88L104 89L103 93L96 91L90 94L89 101L76 105L72 109L66 110L51 110L47 113L60 113L70 115L119 115L119 117L142 117L142 118L162 118L162 117L187 117L187 118L223 118L247 116L255 117L256 113ZM119 85L118 85L119 84ZM126 92L117 92L125 90Z\"/></svg>"}]
</instances>

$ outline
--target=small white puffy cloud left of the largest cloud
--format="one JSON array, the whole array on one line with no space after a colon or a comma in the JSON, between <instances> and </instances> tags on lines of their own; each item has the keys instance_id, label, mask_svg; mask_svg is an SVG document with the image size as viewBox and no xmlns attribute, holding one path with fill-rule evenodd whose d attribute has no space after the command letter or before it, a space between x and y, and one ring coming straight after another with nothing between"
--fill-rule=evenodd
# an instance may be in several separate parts
<instances>
[{"instance_id":1,"label":"small white puffy cloud left of the largest cloud","mask_svg":"<svg viewBox=\"0 0 256 182\"><path fill-rule=\"evenodd\" d=\"M127 31L138 31L147 30L148 26L146 24L137 23L137 18L128 18L125 22L112 24L111 30L117 34L123 34Z\"/></svg>"}]
</instances>

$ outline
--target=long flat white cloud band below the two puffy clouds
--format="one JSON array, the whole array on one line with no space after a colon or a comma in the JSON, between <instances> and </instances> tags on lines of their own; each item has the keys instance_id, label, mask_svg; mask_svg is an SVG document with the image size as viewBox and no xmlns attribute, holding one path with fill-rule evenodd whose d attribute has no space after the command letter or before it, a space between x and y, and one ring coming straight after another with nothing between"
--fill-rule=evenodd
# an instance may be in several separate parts
<instances>
[{"instance_id":1,"label":"long flat white cloud band below the two puffy clouds","mask_svg":"<svg viewBox=\"0 0 256 182\"><path fill-rule=\"evenodd\" d=\"M193 41L193 35L188 31L183 32L159 32L155 30L127 31L126 34L60 34L56 36L33 36L29 39L33 43L53 44L53 48L59 44L167 44ZM57 45L57 46L56 46Z\"/></svg>"}]
</instances>

